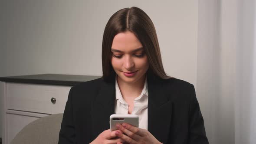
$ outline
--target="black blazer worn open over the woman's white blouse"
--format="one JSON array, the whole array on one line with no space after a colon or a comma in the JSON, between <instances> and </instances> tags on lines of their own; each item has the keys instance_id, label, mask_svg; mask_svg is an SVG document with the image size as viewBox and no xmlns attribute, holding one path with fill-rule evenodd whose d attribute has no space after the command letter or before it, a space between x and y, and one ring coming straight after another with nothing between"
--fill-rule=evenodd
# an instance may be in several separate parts
<instances>
[{"instance_id":1,"label":"black blazer worn open over the woman's white blouse","mask_svg":"<svg viewBox=\"0 0 256 144\"><path fill-rule=\"evenodd\" d=\"M115 110L115 78L83 82L70 89L59 144L89 144L109 129ZM164 144L208 144L194 86L148 77L148 131Z\"/></svg>"}]
</instances>

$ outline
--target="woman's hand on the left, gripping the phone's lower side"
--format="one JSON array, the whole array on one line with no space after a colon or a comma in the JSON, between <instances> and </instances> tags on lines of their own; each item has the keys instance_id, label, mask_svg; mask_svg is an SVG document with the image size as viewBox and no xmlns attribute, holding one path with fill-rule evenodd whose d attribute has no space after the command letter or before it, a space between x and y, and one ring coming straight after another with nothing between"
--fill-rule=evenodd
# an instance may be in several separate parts
<instances>
[{"instance_id":1,"label":"woman's hand on the left, gripping the phone's lower side","mask_svg":"<svg viewBox=\"0 0 256 144\"><path fill-rule=\"evenodd\" d=\"M121 138L117 137L115 134L118 132L119 134L122 134L122 131L116 130L116 131L110 131L110 129L103 131L101 134L98 135L97 138L95 138L94 141L92 141L90 144L117 144L118 142L125 142Z\"/></svg>"}]
</instances>

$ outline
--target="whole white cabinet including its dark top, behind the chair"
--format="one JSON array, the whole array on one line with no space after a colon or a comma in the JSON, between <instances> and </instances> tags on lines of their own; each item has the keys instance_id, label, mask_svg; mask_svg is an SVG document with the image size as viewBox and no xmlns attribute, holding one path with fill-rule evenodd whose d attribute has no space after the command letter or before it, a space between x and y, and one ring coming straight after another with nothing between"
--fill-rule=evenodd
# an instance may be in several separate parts
<instances>
[{"instance_id":1,"label":"whole white cabinet including its dark top, behind the chair","mask_svg":"<svg viewBox=\"0 0 256 144\"><path fill-rule=\"evenodd\" d=\"M10 144L27 124L63 113L72 85L101 76L40 74L0 78L0 118L3 144Z\"/></svg>"}]
</instances>

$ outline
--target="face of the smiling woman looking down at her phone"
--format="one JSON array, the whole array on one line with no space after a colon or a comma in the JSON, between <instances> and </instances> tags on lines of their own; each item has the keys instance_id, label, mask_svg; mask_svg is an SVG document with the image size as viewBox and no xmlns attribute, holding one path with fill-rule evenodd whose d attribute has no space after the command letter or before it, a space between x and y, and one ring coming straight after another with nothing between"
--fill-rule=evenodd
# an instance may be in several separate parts
<instances>
[{"instance_id":1,"label":"face of the smiling woman looking down at her phone","mask_svg":"<svg viewBox=\"0 0 256 144\"><path fill-rule=\"evenodd\" d=\"M135 83L149 68L148 58L134 33L118 33L112 42L111 63L121 81Z\"/></svg>"}]
</instances>

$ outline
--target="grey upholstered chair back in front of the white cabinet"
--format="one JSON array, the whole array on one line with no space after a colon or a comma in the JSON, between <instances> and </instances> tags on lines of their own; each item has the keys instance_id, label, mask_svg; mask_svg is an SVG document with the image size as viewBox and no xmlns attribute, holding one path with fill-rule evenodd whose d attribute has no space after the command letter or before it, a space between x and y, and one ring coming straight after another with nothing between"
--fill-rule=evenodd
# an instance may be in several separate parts
<instances>
[{"instance_id":1,"label":"grey upholstered chair back in front of the white cabinet","mask_svg":"<svg viewBox=\"0 0 256 144\"><path fill-rule=\"evenodd\" d=\"M11 144L57 144L63 114L49 115L26 125Z\"/></svg>"}]
</instances>

